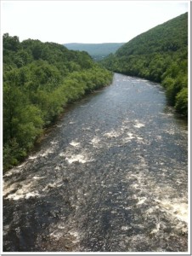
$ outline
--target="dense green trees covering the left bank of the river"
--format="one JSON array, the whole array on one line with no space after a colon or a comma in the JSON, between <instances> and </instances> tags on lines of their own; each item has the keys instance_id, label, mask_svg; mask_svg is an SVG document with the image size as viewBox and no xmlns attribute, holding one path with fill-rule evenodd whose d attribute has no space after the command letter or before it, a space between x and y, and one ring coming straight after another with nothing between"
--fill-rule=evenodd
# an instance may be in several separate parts
<instances>
[{"instance_id":1,"label":"dense green trees covering the left bank of the river","mask_svg":"<svg viewBox=\"0 0 192 256\"><path fill-rule=\"evenodd\" d=\"M31 150L66 104L104 85L112 73L86 52L3 35L3 168Z\"/></svg>"}]
</instances>

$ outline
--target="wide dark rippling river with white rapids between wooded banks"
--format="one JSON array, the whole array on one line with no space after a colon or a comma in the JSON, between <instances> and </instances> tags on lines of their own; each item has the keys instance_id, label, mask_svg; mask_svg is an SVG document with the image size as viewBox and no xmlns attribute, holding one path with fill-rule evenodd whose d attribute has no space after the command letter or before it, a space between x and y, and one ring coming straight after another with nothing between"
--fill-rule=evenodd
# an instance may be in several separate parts
<instances>
[{"instance_id":1,"label":"wide dark rippling river with white rapids between wooded banks","mask_svg":"<svg viewBox=\"0 0 192 256\"><path fill-rule=\"evenodd\" d=\"M3 251L187 251L187 145L159 84L115 74L4 174Z\"/></svg>"}]
</instances>

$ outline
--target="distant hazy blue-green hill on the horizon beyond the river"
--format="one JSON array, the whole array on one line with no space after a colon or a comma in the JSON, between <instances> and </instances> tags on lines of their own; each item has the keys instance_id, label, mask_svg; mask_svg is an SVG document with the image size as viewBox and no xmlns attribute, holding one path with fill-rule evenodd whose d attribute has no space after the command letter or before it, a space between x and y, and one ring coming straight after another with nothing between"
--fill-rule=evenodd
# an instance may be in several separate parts
<instances>
[{"instance_id":1,"label":"distant hazy blue-green hill on the horizon beyond the river","mask_svg":"<svg viewBox=\"0 0 192 256\"><path fill-rule=\"evenodd\" d=\"M87 51L94 61L100 61L107 55L115 53L124 43L104 43L104 44L64 44L67 49Z\"/></svg>"}]
</instances>

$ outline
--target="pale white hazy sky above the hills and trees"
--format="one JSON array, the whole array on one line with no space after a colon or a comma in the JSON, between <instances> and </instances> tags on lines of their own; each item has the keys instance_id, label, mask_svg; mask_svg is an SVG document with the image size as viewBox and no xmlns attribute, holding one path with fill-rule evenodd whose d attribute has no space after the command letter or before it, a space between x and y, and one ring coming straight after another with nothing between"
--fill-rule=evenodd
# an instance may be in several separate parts
<instances>
[{"instance_id":1,"label":"pale white hazy sky above the hills and trees","mask_svg":"<svg viewBox=\"0 0 192 256\"><path fill-rule=\"evenodd\" d=\"M1 1L1 32L42 42L128 42L187 12L189 1Z\"/></svg>"}]
</instances>

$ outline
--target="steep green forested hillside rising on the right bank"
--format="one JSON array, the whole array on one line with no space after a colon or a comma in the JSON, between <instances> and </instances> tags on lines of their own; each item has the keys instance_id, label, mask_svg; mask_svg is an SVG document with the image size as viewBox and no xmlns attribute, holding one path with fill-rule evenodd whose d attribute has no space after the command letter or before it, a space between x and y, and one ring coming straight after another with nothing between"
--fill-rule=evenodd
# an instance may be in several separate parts
<instances>
[{"instance_id":1,"label":"steep green forested hillside rising on the right bank","mask_svg":"<svg viewBox=\"0 0 192 256\"><path fill-rule=\"evenodd\" d=\"M188 113L188 14L155 26L105 58L108 69L160 82L167 101Z\"/></svg>"}]
</instances>

